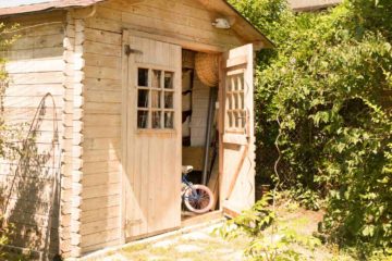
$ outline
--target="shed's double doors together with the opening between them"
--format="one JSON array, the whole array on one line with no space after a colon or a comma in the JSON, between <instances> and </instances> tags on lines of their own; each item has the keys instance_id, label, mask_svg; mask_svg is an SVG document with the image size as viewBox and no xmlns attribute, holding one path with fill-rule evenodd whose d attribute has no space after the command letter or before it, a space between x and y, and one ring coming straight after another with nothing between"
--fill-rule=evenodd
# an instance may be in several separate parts
<instances>
[{"instance_id":1,"label":"shed's double doors together with the opening between them","mask_svg":"<svg viewBox=\"0 0 392 261\"><path fill-rule=\"evenodd\" d=\"M253 46L206 54L207 72L217 70L215 83L206 84L196 62L203 53L127 34L123 39L124 238L161 234L200 216L182 209L182 165L194 167L191 182L212 191L212 215L249 208Z\"/></svg>"}]
</instances>

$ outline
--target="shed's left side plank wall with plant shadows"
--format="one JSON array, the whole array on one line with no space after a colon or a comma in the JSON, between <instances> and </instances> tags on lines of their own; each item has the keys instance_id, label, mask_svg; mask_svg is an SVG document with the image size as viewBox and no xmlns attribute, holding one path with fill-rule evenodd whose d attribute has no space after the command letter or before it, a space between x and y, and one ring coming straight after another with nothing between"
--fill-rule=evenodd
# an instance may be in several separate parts
<instances>
[{"instance_id":1,"label":"shed's left side plank wall with plant shadows","mask_svg":"<svg viewBox=\"0 0 392 261\"><path fill-rule=\"evenodd\" d=\"M64 14L24 15L0 22L20 24L19 40L1 53L8 59L7 71L11 79L5 90L3 116L7 125L20 134L9 141L28 153L28 157L17 156L12 161L0 159L1 212L16 225L14 246L42 251L51 224L50 249L58 252L59 202L52 203L52 194L53 177L60 173L61 159L60 146L53 147L53 141L54 135L61 137L63 132ZM48 92L52 95L54 105L50 97L45 99L46 110L35 116ZM1 132L1 136L11 133ZM27 137L34 136L33 132L35 139L27 141ZM52 222L49 217L51 207Z\"/></svg>"}]
</instances>

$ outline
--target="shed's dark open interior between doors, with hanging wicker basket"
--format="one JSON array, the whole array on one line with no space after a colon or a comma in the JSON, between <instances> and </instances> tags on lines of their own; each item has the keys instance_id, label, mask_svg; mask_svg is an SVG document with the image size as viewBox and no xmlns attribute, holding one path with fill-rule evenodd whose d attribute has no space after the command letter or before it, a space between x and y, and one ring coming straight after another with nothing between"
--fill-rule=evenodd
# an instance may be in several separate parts
<instances>
[{"instance_id":1,"label":"shed's dark open interior between doors, with hanging wicker basket","mask_svg":"<svg viewBox=\"0 0 392 261\"><path fill-rule=\"evenodd\" d=\"M219 209L218 74L218 54L182 50L182 165L193 167L186 175L191 183L207 186L213 195L212 208L204 215ZM200 215L182 206L183 224Z\"/></svg>"}]
</instances>

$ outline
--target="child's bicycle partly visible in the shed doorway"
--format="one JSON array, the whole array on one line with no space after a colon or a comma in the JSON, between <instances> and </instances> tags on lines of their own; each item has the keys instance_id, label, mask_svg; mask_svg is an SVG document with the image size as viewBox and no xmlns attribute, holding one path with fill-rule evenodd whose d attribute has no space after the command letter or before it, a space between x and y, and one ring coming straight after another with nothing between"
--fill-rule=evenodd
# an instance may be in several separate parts
<instances>
[{"instance_id":1,"label":"child's bicycle partly visible in the shed doorway","mask_svg":"<svg viewBox=\"0 0 392 261\"><path fill-rule=\"evenodd\" d=\"M211 190L201 184L193 184L186 179L186 175L193 171L193 166L182 167L181 197L185 207L194 213L203 214L212 209L213 195Z\"/></svg>"}]
</instances>

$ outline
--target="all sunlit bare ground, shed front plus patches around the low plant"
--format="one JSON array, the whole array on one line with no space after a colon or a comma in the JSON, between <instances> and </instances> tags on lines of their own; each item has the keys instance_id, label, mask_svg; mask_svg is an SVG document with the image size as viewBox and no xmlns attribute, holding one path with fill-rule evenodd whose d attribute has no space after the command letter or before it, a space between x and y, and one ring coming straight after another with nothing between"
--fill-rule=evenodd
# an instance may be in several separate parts
<instances>
[{"instance_id":1,"label":"all sunlit bare ground, shed front plus patches around the low plant","mask_svg":"<svg viewBox=\"0 0 392 261\"><path fill-rule=\"evenodd\" d=\"M311 235L317 231L317 224L322 220L322 211L308 211L301 208L285 207L279 211L281 222L294 227L301 235ZM84 261L241 261L244 249L250 239L241 236L234 240L223 240L215 231L223 221L201 225L189 232L180 232L174 235L160 236L148 243L133 244L120 249L109 250L91 256ZM317 247L314 250L301 246L292 246L304 254L305 260L339 260L351 261L350 257L341 256L330 247Z\"/></svg>"}]
</instances>

